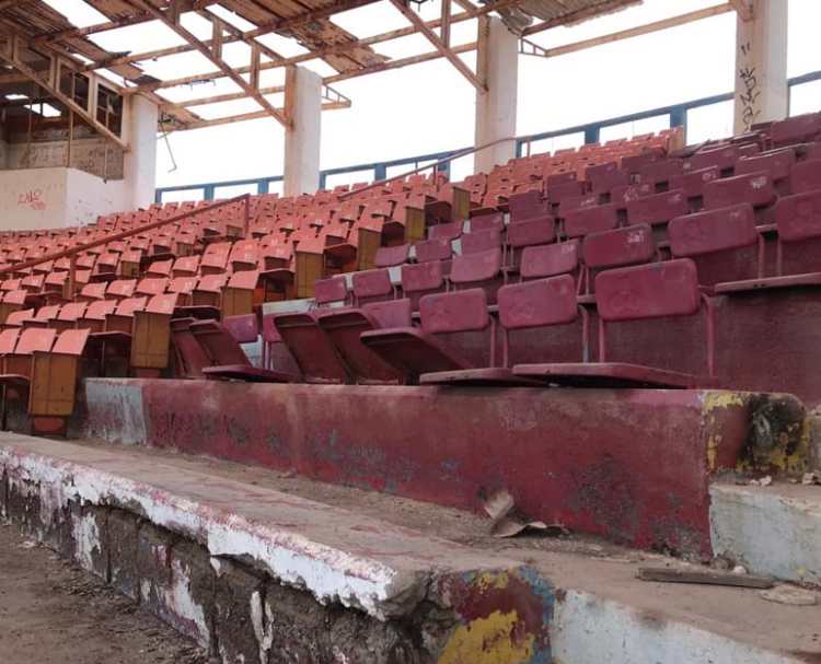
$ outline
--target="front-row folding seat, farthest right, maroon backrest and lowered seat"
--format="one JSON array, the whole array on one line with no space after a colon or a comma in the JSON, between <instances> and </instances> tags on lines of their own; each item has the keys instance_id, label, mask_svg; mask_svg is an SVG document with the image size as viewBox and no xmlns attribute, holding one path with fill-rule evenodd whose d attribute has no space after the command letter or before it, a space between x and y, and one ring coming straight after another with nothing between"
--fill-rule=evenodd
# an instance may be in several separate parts
<instances>
[{"instance_id":1,"label":"front-row folding seat, farthest right, maroon backrest and lowered seat","mask_svg":"<svg viewBox=\"0 0 821 664\"><path fill-rule=\"evenodd\" d=\"M577 387L696 387L710 385L714 378L714 313L713 305L698 290L695 265L687 258L666 263L616 268L600 272L595 278L599 319L598 362L516 364L513 374L543 380L550 384ZM704 304L703 304L704 303ZM686 329L685 342L678 345L671 337L673 318L706 319L706 349L694 349L692 329ZM656 325L650 321L656 321ZM635 327L639 323L640 327ZM617 351L609 348L609 327L617 324L636 336L615 336ZM654 327L656 329L654 329ZM687 326L689 327L689 326ZM647 336L651 335L651 336ZM611 354L631 359L656 358L664 364L686 363L693 357L706 356L707 374L693 374L634 361L613 362Z\"/></svg>"}]
</instances>

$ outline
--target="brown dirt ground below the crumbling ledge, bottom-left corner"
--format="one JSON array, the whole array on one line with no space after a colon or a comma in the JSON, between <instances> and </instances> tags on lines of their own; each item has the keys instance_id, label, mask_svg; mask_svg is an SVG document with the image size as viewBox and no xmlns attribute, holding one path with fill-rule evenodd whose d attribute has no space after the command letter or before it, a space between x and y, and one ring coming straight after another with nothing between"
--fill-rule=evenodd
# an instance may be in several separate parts
<instances>
[{"instance_id":1,"label":"brown dirt ground below the crumbling ledge, bottom-left corner","mask_svg":"<svg viewBox=\"0 0 821 664\"><path fill-rule=\"evenodd\" d=\"M192 641L0 524L2 664L208 664Z\"/></svg>"}]
</instances>

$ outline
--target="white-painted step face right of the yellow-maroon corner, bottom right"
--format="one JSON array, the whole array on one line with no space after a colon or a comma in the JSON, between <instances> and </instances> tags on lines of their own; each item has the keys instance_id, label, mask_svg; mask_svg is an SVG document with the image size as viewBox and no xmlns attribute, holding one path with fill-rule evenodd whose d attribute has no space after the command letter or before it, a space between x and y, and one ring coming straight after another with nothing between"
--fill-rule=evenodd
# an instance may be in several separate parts
<instances>
[{"instance_id":1,"label":"white-painted step face right of the yellow-maroon corner, bottom right","mask_svg":"<svg viewBox=\"0 0 821 664\"><path fill-rule=\"evenodd\" d=\"M554 664L798 664L807 661L577 591L568 591L555 605L551 648Z\"/></svg>"}]
</instances>

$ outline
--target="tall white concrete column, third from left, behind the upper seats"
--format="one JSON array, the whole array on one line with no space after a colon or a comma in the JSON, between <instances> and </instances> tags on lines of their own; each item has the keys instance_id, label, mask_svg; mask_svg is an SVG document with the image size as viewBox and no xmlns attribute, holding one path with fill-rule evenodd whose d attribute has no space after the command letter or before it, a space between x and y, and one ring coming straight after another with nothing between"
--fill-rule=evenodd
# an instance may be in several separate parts
<instances>
[{"instance_id":1,"label":"tall white concrete column, third from left, behind the upper seats","mask_svg":"<svg viewBox=\"0 0 821 664\"><path fill-rule=\"evenodd\" d=\"M487 92L476 91L475 144L516 136L516 102L519 81L519 38L501 19L482 16L478 21L476 73ZM473 160L476 173L489 172L516 156L516 141L506 141L477 152Z\"/></svg>"}]
</instances>

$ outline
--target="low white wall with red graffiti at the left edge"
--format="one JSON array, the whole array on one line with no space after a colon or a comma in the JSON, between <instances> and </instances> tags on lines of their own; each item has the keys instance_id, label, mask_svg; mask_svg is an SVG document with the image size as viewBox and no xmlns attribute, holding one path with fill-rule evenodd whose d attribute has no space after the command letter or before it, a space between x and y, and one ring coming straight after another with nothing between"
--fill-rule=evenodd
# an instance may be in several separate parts
<instances>
[{"instance_id":1,"label":"low white wall with red graffiti at the left edge","mask_svg":"<svg viewBox=\"0 0 821 664\"><path fill-rule=\"evenodd\" d=\"M126 208L122 180L65 167L0 171L3 231L82 225Z\"/></svg>"}]
</instances>

